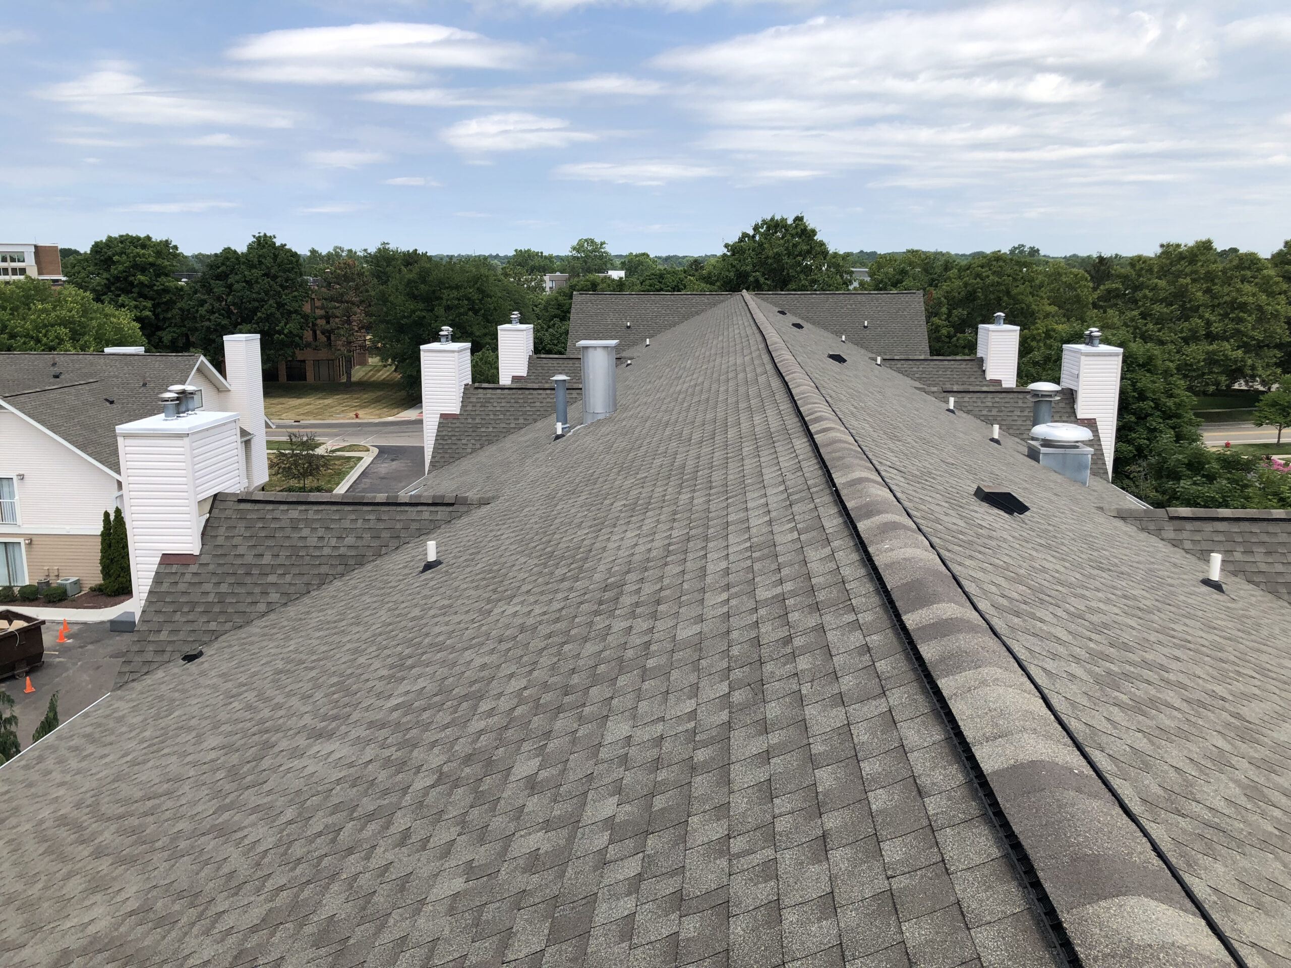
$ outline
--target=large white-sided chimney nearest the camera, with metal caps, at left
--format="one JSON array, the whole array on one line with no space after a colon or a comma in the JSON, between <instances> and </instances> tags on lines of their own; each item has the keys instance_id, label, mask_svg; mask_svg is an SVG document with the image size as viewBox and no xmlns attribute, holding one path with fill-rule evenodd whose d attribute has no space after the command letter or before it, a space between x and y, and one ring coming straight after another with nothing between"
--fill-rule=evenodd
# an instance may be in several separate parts
<instances>
[{"instance_id":1,"label":"large white-sided chimney nearest the camera, with metal caps, at left","mask_svg":"<svg viewBox=\"0 0 1291 968\"><path fill-rule=\"evenodd\" d=\"M156 414L116 429L130 580L142 608L164 554L196 555L210 501L245 479L236 413Z\"/></svg>"}]
</instances>

